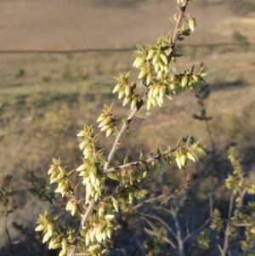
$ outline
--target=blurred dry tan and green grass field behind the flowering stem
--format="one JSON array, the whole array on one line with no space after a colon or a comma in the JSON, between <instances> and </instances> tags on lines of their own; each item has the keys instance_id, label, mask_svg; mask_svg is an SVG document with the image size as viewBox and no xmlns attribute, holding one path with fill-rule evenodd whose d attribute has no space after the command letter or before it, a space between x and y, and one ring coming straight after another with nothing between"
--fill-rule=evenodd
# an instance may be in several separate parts
<instances>
[{"instance_id":1,"label":"blurred dry tan and green grass field behind the flowering stem","mask_svg":"<svg viewBox=\"0 0 255 256\"><path fill-rule=\"evenodd\" d=\"M244 3L253 6L252 1ZM184 57L173 63L173 69L178 72L203 62L212 89L207 111L218 148L235 140L242 149L244 143L255 149L255 8L239 13L232 5L230 0L190 3L197 30L179 44ZM20 202L20 195L15 195L20 210L9 217L8 225L19 219L32 226L40 211L26 193L24 168L43 176L52 156L63 157L76 168L81 156L77 131L84 122L94 123L103 102L115 100L112 77L132 68L130 48L173 32L167 17L174 13L173 0L0 0L0 179L14 174L14 184L24 196ZM234 33L242 39L238 41ZM85 51L47 52L61 50ZM136 75L133 71L133 78ZM147 113L149 120L135 122L138 130L145 125L146 133L138 131L138 139L124 145L135 151L138 142L146 149L157 141L163 148L189 133L202 136L209 145L204 124L192 118L198 109L193 94L180 94ZM247 165L254 168L252 157ZM0 228L0 246L5 241Z\"/></svg>"}]
</instances>

